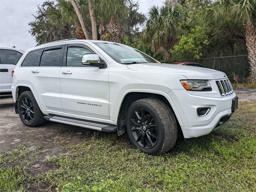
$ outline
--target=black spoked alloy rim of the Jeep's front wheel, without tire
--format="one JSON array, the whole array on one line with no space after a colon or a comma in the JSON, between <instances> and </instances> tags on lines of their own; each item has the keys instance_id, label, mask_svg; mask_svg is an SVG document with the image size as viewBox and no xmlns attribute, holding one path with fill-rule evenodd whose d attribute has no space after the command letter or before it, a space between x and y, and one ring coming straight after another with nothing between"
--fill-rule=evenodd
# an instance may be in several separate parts
<instances>
[{"instance_id":1,"label":"black spoked alloy rim of the Jeep's front wheel, without tire","mask_svg":"<svg viewBox=\"0 0 256 192\"><path fill-rule=\"evenodd\" d=\"M158 127L152 114L144 108L138 108L130 120L133 123L131 131L136 142L145 149L153 148L158 142Z\"/></svg>"}]
</instances>

